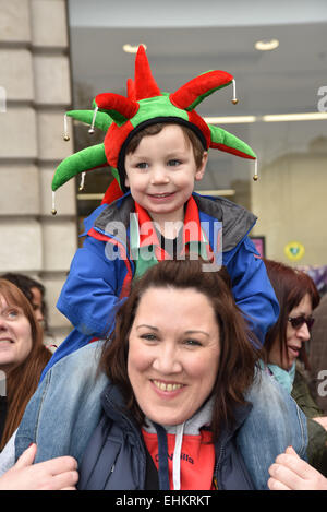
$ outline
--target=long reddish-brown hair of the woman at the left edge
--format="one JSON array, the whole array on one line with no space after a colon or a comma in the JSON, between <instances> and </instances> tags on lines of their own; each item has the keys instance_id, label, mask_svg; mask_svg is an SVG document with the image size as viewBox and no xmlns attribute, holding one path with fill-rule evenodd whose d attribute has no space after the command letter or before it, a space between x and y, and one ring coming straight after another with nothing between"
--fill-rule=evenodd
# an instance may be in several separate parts
<instances>
[{"instance_id":1,"label":"long reddish-brown hair of the woman at the left edge","mask_svg":"<svg viewBox=\"0 0 327 512\"><path fill-rule=\"evenodd\" d=\"M0 450L17 429L25 407L36 391L43 369L51 358L51 352L43 343L43 331L25 295L14 284L0 278L0 295L11 307L22 309L31 325L32 349L26 359L7 373L7 416Z\"/></svg>"}]
</instances>

